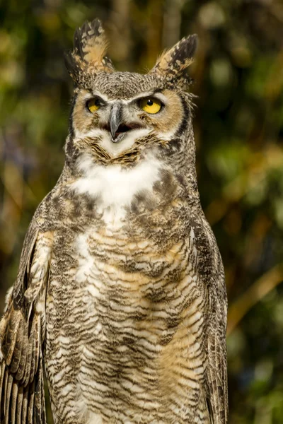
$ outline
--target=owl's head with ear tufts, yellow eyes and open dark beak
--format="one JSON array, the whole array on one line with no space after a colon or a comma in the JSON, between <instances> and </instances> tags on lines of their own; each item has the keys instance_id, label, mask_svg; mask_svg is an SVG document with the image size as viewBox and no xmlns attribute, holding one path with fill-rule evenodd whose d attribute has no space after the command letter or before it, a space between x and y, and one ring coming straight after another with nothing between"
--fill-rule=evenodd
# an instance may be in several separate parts
<instances>
[{"instance_id":1,"label":"owl's head with ear tufts, yellow eyes and open dark beak","mask_svg":"<svg viewBox=\"0 0 283 424\"><path fill-rule=\"evenodd\" d=\"M94 163L131 166L148 154L168 154L180 140L185 143L192 106L186 69L196 35L163 52L145 74L115 71L107 46L96 19L76 30L74 49L65 55L74 81L67 158L74 162L87 155Z\"/></svg>"}]
</instances>

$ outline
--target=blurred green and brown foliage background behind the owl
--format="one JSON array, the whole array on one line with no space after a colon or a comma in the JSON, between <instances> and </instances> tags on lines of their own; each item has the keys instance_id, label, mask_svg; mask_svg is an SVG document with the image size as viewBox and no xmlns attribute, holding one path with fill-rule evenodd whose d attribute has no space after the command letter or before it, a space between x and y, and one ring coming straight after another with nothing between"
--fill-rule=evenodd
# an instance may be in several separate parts
<instances>
[{"instance_id":1,"label":"blurred green and brown foliage background behind the owl","mask_svg":"<svg viewBox=\"0 0 283 424\"><path fill-rule=\"evenodd\" d=\"M143 72L180 37L200 37L190 69L197 173L226 269L229 423L283 423L280 0L1 0L0 309L28 223L64 163L63 51L95 17L121 71Z\"/></svg>"}]
</instances>

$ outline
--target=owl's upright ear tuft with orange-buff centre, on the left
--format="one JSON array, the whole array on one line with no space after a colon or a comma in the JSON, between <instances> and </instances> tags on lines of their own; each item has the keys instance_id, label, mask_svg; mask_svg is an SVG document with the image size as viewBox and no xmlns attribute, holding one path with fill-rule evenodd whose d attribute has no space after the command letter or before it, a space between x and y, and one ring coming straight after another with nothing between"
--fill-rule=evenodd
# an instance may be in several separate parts
<instances>
[{"instance_id":1,"label":"owl's upright ear tuft with orange-buff centre, on the left","mask_svg":"<svg viewBox=\"0 0 283 424\"><path fill-rule=\"evenodd\" d=\"M112 72L110 59L105 57L108 41L99 19L86 21L74 33L74 49L65 52L65 65L71 77L79 82L80 71Z\"/></svg>"}]
</instances>

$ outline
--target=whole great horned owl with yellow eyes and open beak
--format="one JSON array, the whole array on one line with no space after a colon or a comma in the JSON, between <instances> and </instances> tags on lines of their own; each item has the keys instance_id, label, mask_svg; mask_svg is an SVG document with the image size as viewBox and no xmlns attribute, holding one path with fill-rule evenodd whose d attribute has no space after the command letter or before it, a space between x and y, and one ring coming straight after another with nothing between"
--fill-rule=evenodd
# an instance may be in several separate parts
<instances>
[{"instance_id":1,"label":"whole great horned owl with yellow eyes and open beak","mask_svg":"<svg viewBox=\"0 0 283 424\"><path fill-rule=\"evenodd\" d=\"M0 326L1 423L227 421L226 289L200 206L185 71L196 36L117 72L76 30L62 175L35 212Z\"/></svg>"}]
</instances>

